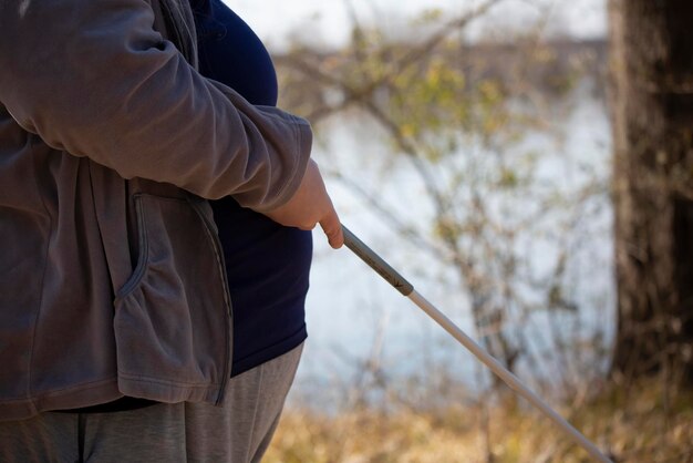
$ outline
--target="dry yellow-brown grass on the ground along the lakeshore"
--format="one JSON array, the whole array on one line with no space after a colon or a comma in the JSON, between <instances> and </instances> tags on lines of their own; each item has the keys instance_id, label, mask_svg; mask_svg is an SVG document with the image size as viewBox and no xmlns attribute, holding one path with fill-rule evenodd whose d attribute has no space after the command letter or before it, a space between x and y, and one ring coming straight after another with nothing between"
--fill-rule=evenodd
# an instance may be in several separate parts
<instances>
[{"instance_id":1,"label":"dry yellow-brown grass on the ground along the lakeshore","mask_svg":"<svg viewBox=\"0 0 693 463\"><path fill-rule=\"evenodd\" d=\"M671 395L671 394L670 394ZM693 393L663 400L655 384L613 389L563 415L616 462L693 462ZM486 420L488 418L488 420ZM486 424L488 426L486 426ZM266 459L298 462L589 462L547 419L514 401L325 415L288 409Z\"/></svg>"}]
</instances>

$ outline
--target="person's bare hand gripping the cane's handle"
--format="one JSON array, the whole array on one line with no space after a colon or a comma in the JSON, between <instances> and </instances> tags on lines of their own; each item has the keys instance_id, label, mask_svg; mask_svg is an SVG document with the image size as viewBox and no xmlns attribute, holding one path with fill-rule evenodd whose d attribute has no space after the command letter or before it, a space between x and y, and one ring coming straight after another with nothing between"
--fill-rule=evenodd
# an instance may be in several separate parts
<instances>
[{"instance_id":1,"label":"person's bare hand gripping the cane's handle","mask_svg":"<svg viewBox=\"0 0 693 463\"><path fill-rule=\"evenodd\" d=\"M302 230L312 230L320 224L330 246L338 249L344 244L342 225L313 160L308 161L303 179L291 199L262 214L281 225Z\"/></svg>"}]
</instances>

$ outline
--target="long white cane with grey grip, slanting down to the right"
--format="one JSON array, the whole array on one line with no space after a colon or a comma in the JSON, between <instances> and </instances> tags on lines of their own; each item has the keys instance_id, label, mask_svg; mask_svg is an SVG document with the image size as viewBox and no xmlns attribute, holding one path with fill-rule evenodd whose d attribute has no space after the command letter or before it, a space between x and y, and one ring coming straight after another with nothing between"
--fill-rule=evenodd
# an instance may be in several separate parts
<instances>
[{"instance_id":1,"label":"long white cane with grey grip, slanting down to the right","mask_svg":"<svg viewBox=\"0 0 693 463\"><path fill-rule=\"evenodd\" d=\"M541 413L554 421L554 423L558 424L558 426L563 430L575 443L585 449L594 460L603 463L612 463L611 460L604 456L592 442L580 433L580 431L575 429L546 402L539 399L539 397L523 384L523 382L515 374L509 372L505 367L503 367L503 364L500 364L500 362L498 362L498 360L492 357L488 352L486 352L486 350L484 350L484 348L465 335L463 330L453 323L451 319L433 306L433 303L428 302L423 296L416 292L412 284L404 279L402 275L392 268L383 258L363 244L363 241L356 238L356 236L343 225L342 230L344 233L344 245L359 256L361 260L366 263L403 296L406 296L414 301L414 303L425 311L428 317L433 318L436 323L445 329L445 331L451 333L457 341L459 341L459 343L474 353L474 356L484 362L486 367L490 368L494 373L496 373L506 384L510 387L510 389L527 399L532 405L539 409Z\"/></svg>"}]
</instances>

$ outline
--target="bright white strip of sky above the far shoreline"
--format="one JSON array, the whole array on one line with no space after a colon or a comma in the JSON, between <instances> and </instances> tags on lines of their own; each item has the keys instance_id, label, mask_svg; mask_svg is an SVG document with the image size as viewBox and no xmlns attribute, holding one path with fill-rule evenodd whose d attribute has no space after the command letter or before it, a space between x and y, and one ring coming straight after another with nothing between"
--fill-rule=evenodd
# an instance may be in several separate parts
<instances>
[{"instance_id":1,"label":"bright white strip of sky above the far shoreline","mask_svg":"<svg viewBox=\"0 0 693 463\"><path fill-rule=\"evenodd\" d=\"M468 11L482 0L224 0L250 24L272 49L287 38L300 35L339 47L349 35L350 6L359 21L377 21L396 33L403 22L427 9L451 13ZM607 31L607 0L504 0L470 33L521 29L547 18L546 33L575 38L599 38ZM400 29L401 30L401 29Z\"/></svg>"}]
</instances>

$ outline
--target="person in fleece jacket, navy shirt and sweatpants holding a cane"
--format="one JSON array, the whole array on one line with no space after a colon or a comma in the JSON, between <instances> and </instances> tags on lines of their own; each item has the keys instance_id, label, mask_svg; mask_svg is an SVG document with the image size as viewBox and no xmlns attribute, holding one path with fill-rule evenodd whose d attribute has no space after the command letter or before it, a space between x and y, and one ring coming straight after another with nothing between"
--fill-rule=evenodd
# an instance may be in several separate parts
<instances>
[{"instance_id":1,"label":"person in fleece jacket, navy shirt and sweatpants holding a cane","mask_svg":"<svg viewBox=\"0 0 693 463\"><path fill-rule=\"evenodd\" d=\"M277 425L341 225L261 43L190 2L0 3L0 461L259 461Z\"/></svg>"}]
</instances>

